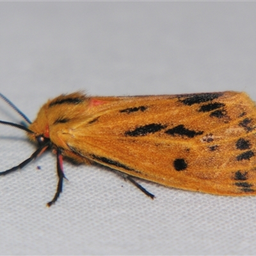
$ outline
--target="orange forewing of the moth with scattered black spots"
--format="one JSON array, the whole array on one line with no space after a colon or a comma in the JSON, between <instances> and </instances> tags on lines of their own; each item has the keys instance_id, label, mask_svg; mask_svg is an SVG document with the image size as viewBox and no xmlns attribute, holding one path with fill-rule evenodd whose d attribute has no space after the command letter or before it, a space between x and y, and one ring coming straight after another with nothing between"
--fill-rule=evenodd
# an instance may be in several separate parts
<instances>
[{"instance_id":1,"label":"orange forewing of the moth with scattered black spots","mask_svg":"<svg viewBox=\"0 0 256 256\"><path fill-rule=\"evenodd\" d=\"M255 111L245 93L127 97L79 125L68 147L173 188L255 195Z\"/></svg>"}]
</instances>

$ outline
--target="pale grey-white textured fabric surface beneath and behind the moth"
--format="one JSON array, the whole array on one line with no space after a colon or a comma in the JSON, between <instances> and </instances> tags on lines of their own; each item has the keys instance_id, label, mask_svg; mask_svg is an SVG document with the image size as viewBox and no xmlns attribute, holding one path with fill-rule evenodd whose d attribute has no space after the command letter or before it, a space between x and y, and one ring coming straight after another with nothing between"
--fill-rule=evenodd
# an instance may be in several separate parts
<instances>
[{"instance_id":1,"label":"pale grey-white textured fabric surface beneath and behind the moth","mask_svg":"<svg viewBox=\"0 0 256 256\"><path fill-rule=\"evenodd\" d=\"M255 2L1 2L0 92L33 119L60 93L237 90L256 100ZM0 119L21 119L4 102ZM1 170L35 150L0 126ZM37 170L36 166L42 170ZM246 255L256 252L256 197L129 182L65 163L57 204L48 153L0 177L0 254Z\"/></svg>"}]
</instances>

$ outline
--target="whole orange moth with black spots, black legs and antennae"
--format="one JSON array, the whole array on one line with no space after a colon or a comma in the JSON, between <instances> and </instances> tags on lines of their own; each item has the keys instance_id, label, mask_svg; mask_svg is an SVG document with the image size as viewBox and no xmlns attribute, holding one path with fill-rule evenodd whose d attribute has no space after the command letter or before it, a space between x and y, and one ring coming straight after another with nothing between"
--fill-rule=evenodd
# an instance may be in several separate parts
<instances>
[{"instance_id":1,"label":"whole orange moth with black spots, black legs and antennae","mask_svg":"<svg viewBox=\"0 0 256 256\"><path fill-rule=\"evenodd\" d=\"M136 97L90 97L81 92L48 100L34 122L5 100L28 127L38 149L6 175L47 149L57 156L62 191L63 157L108 166L151 198L133 177L214 195L256 195L256 107L244 92Z\"/></svg>"}]
</instances>

